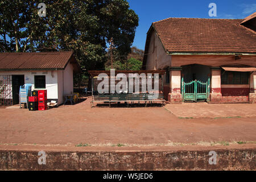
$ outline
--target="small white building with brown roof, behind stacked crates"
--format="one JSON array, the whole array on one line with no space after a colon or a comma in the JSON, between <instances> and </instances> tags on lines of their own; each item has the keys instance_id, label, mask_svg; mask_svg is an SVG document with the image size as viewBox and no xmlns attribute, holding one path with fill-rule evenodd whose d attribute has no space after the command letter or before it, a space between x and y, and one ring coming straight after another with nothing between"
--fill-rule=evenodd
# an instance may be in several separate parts
<instances>
[{"instance_id":1,"label":"small white building with brown roof, behind stacked crates","mask_svg":"<svg viewBox=\"0 0 256 182\"><path fill-rule=\"evenodd\" d=\"M32 90L47 90L48 101L63 104L63 95L73 93L74 72L80 67L72 51L0 53L0 102L18 104L20 85L32 84Z\"/></svg>"}]
</instances>

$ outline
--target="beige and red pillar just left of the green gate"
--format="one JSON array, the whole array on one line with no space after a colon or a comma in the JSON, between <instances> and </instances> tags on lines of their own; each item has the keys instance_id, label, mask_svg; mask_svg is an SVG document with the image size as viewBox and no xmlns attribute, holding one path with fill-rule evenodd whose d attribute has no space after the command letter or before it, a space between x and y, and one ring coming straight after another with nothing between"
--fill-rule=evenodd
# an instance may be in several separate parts
<instances>
[{"instance_id":1,"label":"beige and red pillar just left of the green gate","mask_svg":"<svg viewBox=\"0 0 256 182\"><path fill-rule=\"evenodd\" d=\"M170 93L168 101L173 104L180 104L181 97L181 68L170 69Z\"/></svg>"}]
</instances>

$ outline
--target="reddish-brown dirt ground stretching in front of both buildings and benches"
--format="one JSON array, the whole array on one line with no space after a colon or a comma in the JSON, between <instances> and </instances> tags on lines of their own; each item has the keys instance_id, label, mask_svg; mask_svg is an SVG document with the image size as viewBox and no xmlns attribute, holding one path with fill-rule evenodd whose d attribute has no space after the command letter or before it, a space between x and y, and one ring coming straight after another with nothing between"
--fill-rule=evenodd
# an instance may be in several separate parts
<instances>
[{"instance_id":1,"label":"reddish-brown dirt ground stretching in front of both buildings and benches","mask_svg":"<svg viewBox=\"0 0 256 182\"><path fill-rule=\"evenodd\" d=\"M205 114L200 115L202 118L195 118L195 111L200 113L202 109L205 113L206 106L213 113L210 118L205 118ZM185 115L179 114L179 107ZM0 109L0 143L10 146L76 146L82 143L108 147L118 144L175 146L180 143L182 146L212 142L255 143L255 113L255 104L90 108L88 98L80 104L46 111Z\"/></svg>"}]
</instances>

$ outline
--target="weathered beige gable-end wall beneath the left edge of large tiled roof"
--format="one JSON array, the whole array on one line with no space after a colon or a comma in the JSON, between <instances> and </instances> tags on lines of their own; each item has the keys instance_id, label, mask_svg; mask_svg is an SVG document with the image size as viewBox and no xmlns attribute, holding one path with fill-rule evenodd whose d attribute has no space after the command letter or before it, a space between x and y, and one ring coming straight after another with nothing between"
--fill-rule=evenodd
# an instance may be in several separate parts
<instances>
[{"instance_id":1,"label":"weathered beige gable-end wall beneath the left edge of large tiled roof","mask_svg":"<svg viewBox=\"0 0 256 182\"><path fill-rule=\"evenodd\" d=\"M171 67L171 57L171 55L166 55L158 35L153 30L150 35L150 46L148 48L146 69L158 70Z\"/></svg>"}]
</instances>

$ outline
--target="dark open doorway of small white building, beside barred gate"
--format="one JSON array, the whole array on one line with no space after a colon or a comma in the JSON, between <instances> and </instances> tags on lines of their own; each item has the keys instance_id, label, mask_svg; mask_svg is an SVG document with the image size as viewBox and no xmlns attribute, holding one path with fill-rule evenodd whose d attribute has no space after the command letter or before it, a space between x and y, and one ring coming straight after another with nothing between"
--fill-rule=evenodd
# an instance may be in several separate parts
<instances>
[{"instance_id":1,"label":"dark open doorway of small white building, beside barred gate","mask_svg":"<svg viewBox=\"0 0 256 182\"><path fill-rule=\"evenodd\" d=\"M19 104L19 88L24 85L24 75L12 75L13 104Z\"/></svg>"}]
</instances>

